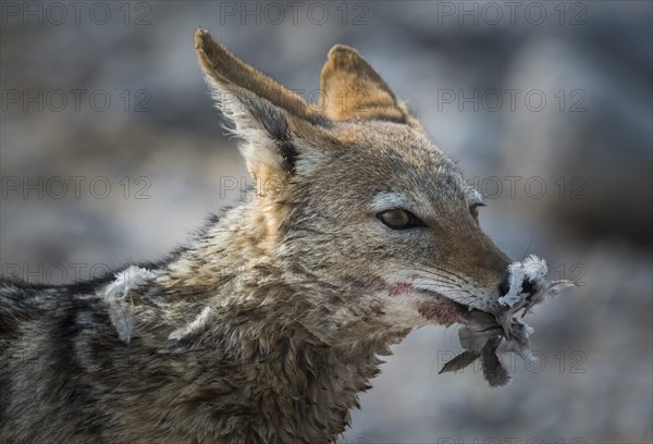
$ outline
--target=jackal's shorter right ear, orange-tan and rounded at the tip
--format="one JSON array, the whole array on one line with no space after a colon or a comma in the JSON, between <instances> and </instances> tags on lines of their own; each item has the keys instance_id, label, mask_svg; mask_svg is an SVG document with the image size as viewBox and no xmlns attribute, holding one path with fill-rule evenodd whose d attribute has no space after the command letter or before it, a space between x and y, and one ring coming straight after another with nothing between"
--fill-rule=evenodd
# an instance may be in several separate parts
<instances>
[{"instance_id":1,"label":"jackal's shorter right ear, orange-tan and rounded at the tip","mask_svg":"<svg viewBox=\"0 0 653 444\"><path fill-rule=\"evenodd\" d=\"M331 120L417 123L405 103L354 48L335 45L320 75L320 109Z\"/></svg>"}]
</instances>

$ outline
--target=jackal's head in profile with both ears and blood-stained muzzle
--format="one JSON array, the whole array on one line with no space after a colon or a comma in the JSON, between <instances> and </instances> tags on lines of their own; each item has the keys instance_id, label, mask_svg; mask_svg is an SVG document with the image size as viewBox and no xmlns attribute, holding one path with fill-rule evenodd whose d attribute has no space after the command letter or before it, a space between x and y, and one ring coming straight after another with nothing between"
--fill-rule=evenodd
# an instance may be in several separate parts
<instances>
[{"instance_id":1,"label":"jackal's head in profile with both ears and blood-stained muzzle","mask_svg":"<svg viewBox=\"0 0 653 444\"><path fill-rule=\"evenodd\" d=\"M195 48L244 141L278 263L310 275L307 288L336 288L346 309L404 326L501 310L510 260L479 225L481 195L356 50L331 49L308 103L206 30Z\"/></svg>"}]
</instances>

